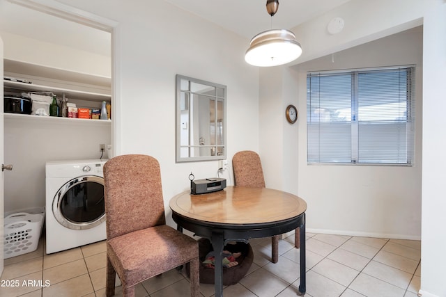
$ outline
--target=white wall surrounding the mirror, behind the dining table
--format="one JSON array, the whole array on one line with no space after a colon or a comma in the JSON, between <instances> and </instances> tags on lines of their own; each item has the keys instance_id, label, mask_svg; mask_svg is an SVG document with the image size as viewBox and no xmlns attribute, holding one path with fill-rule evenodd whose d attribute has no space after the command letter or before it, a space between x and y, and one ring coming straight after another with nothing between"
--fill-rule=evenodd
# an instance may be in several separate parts
<instances>
[{"instance_id":1,"label":"white wall surrounding the mirror, behind the dining table","mask_svg":"<svg viewBox=\"0 0 446 297\"><path fill-rule=\"evenodd\" d=\"M175 163L175 75L227 86L228 159L259 150L259 70L244 61L249 40L161 1L62 1L119 23L116 138L118 154L160 161L164 203L190 186L188 175L217 176L217 161ZM115 104L116 105L116 104ZM232 167L224 172L233 183Z\"/></svg>"}]
</instances>

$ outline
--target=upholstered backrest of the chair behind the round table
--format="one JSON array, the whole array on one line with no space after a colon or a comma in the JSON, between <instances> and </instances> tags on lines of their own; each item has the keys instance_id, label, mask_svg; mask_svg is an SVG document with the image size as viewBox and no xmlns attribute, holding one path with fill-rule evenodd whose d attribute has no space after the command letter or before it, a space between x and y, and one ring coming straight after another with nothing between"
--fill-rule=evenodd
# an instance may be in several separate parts
<instances>
[{"instance_id":1,"label":"upholstered backrest of the chair behind the round table","mask_svg":"<svg viewBox=\"0 0 446 297\"><path fill-rule=\"evenodd\" d=\"M256 152L244 150L234 154L232 168L236 186L265 188L260 156Z\"/></svg>"}]
</instances>

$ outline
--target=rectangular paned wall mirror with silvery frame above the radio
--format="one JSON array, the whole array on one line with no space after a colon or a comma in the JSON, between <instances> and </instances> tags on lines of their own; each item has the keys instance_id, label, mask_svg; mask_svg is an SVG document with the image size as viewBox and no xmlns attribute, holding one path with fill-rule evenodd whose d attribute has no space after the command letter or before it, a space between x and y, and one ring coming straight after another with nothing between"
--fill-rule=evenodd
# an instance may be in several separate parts
<instances>
[{"instance_id":1,"label":"rectangular paned wall mirror with silvery frame above the radio","mask_svg":"<svg viewBox=\"0 0 446 297\"><path fill-rule=\"evenodd\" d=\"M226 86L176 75L176 161L226 159Z\"/></svg>"}]
</instances>

